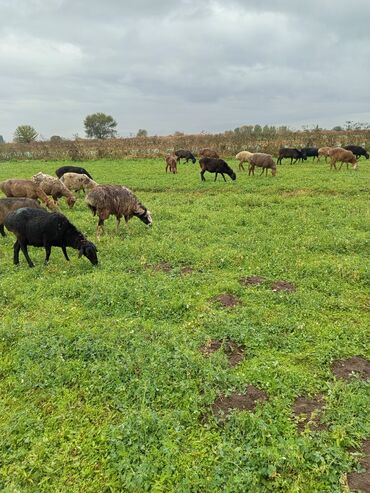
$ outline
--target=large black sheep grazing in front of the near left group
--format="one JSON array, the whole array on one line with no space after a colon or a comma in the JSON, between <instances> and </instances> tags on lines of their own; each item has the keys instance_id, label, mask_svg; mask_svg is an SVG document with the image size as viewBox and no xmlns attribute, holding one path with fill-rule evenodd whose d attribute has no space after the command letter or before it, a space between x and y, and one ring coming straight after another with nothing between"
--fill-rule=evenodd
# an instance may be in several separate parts
<instances>
[{"instance_id":1,"label":"large black sheep grazing in front of the near left group","mask_svg":"<svg viewBox=\"0 0 370 493\"><path fill-rule=\"evenodd\" d=\"M49 261L51 247L60 247L66 260L69 260L66 247L78 250L78 256L84 255L93 265L97 265L97 249L88 241L68 219L59 212L47 212L43 209L22 207L11 212L5 219L5 227L15 234L14 264L19 264L19 250L22 250L30 267L34 267L27 246L44 247L45 264Z\"/></svg>"}]
</instances>

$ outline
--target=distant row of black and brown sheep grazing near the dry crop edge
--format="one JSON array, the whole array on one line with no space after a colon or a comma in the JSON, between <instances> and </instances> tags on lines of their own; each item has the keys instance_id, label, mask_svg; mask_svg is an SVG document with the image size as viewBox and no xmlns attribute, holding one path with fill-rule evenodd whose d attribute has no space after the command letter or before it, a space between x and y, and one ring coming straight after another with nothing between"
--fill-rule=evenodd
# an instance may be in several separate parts
<instances>
[{"instance_id":1,"label":"distant row of black and brown sheep grazing near the dry crop edge","mask_svg":"<svg viewBox=\"0 0 370 493\"><path fill-rule=\"evenodd\" d=\"M230 166L223 160L220 159L219 154L212 149L202 149L199 151L199 164L201 167L201 179L205 180L204 173L209 171L210 173L215 173L215 181L217 180L218 174L221 174L223 179L226 181L224 174L230 176L232 180L236 179L234 171ZM270 169L272 176L276 175L276 165L281 164L283 159L290 158L290 163L296 163L297 161L305 161L308 157L317 158L320 161L321 157L325 158L327 162L328 157L330 158L330 169L334 168L337 170L337 163L341 163L339 169L341 169L343 163L347 164L347 169L349 164L352 165L353 169L357 169L357 159L360 156L365 156L369 159L369 154L361 146L348 145L345 147L305 147L302 149L282 147L279 151L277 162L275 163L271 154L265 154L262 152L249 152L241 151L236 156L235 159L239 161L239 171L244 170L243 163L248 163L248 174L254 175L255 168L262 168L261 174ZM170 171L171 173L177 173L177 164L184 159L187 163L192 161L194 164L196 158L194 154L185 149L180 149L175 151L174 154L169 154L165 157L166 161L166 173ZM294 161L293 161L294 160Z\"/></svg>"}]
</instances>

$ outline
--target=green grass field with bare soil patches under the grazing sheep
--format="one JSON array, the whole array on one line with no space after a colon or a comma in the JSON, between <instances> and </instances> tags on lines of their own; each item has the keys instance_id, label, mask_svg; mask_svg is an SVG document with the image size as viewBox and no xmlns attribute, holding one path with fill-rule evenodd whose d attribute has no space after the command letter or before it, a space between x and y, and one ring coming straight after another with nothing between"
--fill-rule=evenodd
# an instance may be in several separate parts
<instances>
[{"instance_id":1,"label":"green grass field with bare soil patches under the grazing sheep","mask_svg":"<svg viewBox=\"0 0 370 493\"><path fill-rule=\"evenodd\" d=\"M0 163L0 180L59 165ZM133 218L116 235L111 218L97 268L57 248L45 267L32 247L36 267L22 254L14 267L14 239L0 238L0 491L348 491L370 385L332 364L370 358L370 163L227 183L201 183L198 165L166 175L162 160L81 165L132 188L153 227ZM82 198L61 210L95 241ZM273 291L277 280L296 289ZM215 299L225 293L236 306ZM201 351L213 340L221 349ZM233 367L229 340L244 348ZM267 400L212 412L248 385ZM322 426L298 431L296 398L318 394Z\"/></svg>"}]
</instances>

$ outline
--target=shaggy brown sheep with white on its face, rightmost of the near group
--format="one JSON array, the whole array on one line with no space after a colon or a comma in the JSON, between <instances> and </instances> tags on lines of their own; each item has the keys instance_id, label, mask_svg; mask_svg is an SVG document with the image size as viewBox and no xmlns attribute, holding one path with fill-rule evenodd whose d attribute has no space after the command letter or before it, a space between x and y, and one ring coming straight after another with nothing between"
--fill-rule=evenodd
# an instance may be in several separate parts
<instances>
[{"instance_id":1,"label":"shaggy brown sheep with white on its face, rightmost of the near group","mask_svg":"<svg viewBox=\"0 0 370 493\"><path fill-rule=\"evenodd\" d=\"M88 193L85 199L93 215L98 215L99 221L96 235L104 232L104 221L112 214L116 216L116 232L118 232L121 218L126 224L133 216L138 217L148 226L152 225L150 211L137 199L134 193L122 185L98 185Z\"/></svg>"}]
</instances>

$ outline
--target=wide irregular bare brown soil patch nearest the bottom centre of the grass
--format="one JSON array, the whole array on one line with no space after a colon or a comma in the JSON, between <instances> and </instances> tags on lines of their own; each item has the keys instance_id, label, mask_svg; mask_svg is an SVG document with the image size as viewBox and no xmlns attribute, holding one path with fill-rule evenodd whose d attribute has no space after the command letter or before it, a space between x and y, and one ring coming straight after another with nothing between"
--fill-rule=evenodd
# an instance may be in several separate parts
<instances>
[{"instance_id":1,"label":"wide irregular bare brown soil patch nearest the bottom centre of the grass","mask_svg":"<svg viewBox=\"0 0 370 493\"><path fill-rule=\"evenodd\" d=\"M218 418L226 418L232 411L254 411L258 401L266 400L266 392L248 385L245 394L221 395L212 404L212 412Z\"/></svg>"}]
</instances>

